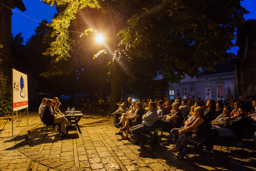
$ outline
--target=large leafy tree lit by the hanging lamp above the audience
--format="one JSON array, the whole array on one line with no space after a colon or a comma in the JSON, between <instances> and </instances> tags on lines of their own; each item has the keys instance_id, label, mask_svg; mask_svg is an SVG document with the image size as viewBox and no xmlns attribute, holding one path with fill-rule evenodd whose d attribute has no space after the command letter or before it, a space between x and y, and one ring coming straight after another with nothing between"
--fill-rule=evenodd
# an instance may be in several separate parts
<instances>
[{"instance_id":1,"label":"large leafy tree lit by the hanging lamp above the audience","mask_svg":"<svg viewBox=\"0 0 256 171\"><path fill-rule=\"evenodd\" d=\"M177 82L185 73L196 75L198 67L213 69L213 64L235 57L226 51L234 46L231 41L235 38L235 27L244 22L243 14L248 13L241 7L240 0L44 2L62 8L50 24L55 41L45 52L53 57L51 73L54 74L70 73L72 67L65 67L67 63L77 65L72 53L75 41L69 39L67 31L70 21L76 19L79 11L87 10L86 6L96 8L90 9L93 14L98 12L95 16L107 15L105 23L111 28L112 36L109 51L113 52L107 57L110 112L119 101L122 78L125 78L122 75L132 75L133 79L136 79L134 73L154 76L155 70L163 68L163 75ZM83 35L88 31L94 32L94 29L84 29ZM56 72L60 66L63 69Z\"/></svg>"}]
</instances>

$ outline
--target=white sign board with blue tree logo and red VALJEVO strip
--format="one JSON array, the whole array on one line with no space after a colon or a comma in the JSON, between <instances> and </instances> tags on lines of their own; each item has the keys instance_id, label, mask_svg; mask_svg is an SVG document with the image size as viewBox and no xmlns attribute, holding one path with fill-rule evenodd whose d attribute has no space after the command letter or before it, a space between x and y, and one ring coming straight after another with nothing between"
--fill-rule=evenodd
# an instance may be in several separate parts
<instances>
[{"instance_id":1,"label":"white sign board with blue tree logo and red VALJEVO strip","mask_svg":"<svg viewBox=\"0 0 256 171\"><path fill-rule=\"evenodd\" d=\"M28 77L12 69L13 112L28 107Z\"/></svg>"}]
</instances>

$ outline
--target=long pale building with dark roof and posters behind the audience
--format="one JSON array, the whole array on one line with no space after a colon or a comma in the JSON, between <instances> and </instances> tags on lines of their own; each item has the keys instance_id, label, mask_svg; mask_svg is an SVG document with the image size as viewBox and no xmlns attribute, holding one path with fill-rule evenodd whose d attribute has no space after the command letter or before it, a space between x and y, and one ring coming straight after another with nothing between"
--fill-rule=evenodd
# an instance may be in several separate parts
<instances>
[{"instance_id":1,"label":"long pale building with dark roof and posters behind the audience","mask_svg":"<svg viewBox=\"0 0 256 171\"><path fill-rule=\"evenodd\" d=\"M164 90L162 88L164 92L161 94L168 99L175 99L176 97L188 99L190 95L195 100L200 97L204 101L208 99L223 100L227 95L227 90L230 90L231 94L234 95L234 59L226 64L219 63L214 66L214 69L215 71L205 70L194 77L185 74L180 83L169 83L169 87L165 87ZM159 74L153 80L160 81L162 79L163 76ZM159 92L160 90L155 88L154 91ZM153 98L156 98L154 91Z\"/></svg>"}]
</instances>

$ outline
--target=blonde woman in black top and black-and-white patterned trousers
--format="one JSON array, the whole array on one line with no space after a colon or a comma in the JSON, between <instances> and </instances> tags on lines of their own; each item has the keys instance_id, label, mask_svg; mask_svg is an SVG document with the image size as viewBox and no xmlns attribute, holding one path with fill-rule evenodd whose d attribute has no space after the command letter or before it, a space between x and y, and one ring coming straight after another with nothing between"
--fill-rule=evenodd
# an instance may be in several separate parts
<instances>
[{"instance_id":1,"label":"blonde woman in black top and black-and-white patterned trousers","mask_svg":"<svg viewBox=\"0 0 256 171\"><path fill-rule=\"evenodd\" d=\"M178 155L174 156L176 159L183 160L189 141L202 142L203 140L209 140L211 123L203 114L203 108L196 107L194 109L196 121L190 127L178 131L178 140L175 146L170 149L171 151L178 151Z\"/></svg>"}]
</instances>

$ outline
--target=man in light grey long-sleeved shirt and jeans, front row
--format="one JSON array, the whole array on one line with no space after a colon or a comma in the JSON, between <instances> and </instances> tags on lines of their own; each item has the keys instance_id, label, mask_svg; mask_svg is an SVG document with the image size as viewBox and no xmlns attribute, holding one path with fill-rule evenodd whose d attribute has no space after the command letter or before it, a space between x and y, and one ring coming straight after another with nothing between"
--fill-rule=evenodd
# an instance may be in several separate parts
<instances>
[{"instance_id":1,"label":"man in light grey long-sleeved shirt and jeans, front row","mask_svg":"<svg viewBox=\"0 0 256 171\"><path fill-rule=\"evenodd\" d=\"M148 105L149 111L142 116L142 124L136 125L131 128L131 133L135 138L140 142L141 147L144 144L145 139L141 142L141 132L151 131L153 124L157 121L157 106L155 102L149 102Z\"/></svg>"}]
</instances>

